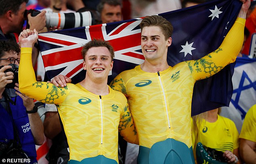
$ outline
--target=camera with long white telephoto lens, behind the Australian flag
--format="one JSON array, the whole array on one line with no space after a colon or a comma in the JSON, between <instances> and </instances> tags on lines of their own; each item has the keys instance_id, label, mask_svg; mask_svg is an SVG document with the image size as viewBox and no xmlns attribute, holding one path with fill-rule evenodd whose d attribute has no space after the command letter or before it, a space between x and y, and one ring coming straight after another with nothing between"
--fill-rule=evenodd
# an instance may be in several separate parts
<instances>
[{"instance_id":1,"label":"camera with long white telephoto lens, behind the Australian flag","mask_svg":"<svg viewBox=\"0 0 256 164\"><path fill-rule=\"evenodd\" d=\"M40 13L39 10L26 10L25 18L27 14L31 13L31 16L36 16ZM61 27L61 29L71 29L75 27L85 27L90 25L99 24L100 14L95 10L88 10L84 12L70 12L70 13L57 13L46 12L46 27ZM29 27L27 21L27 28Z\"/></svg>"}]
</instances>

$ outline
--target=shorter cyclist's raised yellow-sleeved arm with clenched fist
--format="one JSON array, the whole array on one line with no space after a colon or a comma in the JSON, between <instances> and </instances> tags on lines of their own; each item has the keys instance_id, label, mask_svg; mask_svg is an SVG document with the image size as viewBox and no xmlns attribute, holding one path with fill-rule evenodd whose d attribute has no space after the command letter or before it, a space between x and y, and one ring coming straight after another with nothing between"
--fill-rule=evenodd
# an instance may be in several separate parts
<instances>
[{"instance_id":1,"label":"shorter cyclist's raised yellow-sleeved arm with clenched fist","mask_svg":"<svg viewBox=\"0 0 256 164\"><path fill-rule=\"evenodd\" d=\"M32 66L32 47L38 39L38 32L34 29L23 30L19 35L21 44L21 60L19 64L19 90L29 97L43 103L58 104L65 100L67 87L58 88L48 82L37 82Z\"/></svg>"}]
</instances>

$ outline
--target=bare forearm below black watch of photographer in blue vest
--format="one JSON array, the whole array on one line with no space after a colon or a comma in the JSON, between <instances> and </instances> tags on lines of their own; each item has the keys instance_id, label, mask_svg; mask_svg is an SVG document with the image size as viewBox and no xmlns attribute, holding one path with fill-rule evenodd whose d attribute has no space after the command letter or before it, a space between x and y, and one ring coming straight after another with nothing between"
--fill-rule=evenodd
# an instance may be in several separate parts
<instances>
[{"instance_id":1,"label":"bare forearm below black watch of photographer in blue vest","mask_svg":"<svg viewBox=\"0 0 256 164\"><path fill-rule=\"evenodd\" d=\"M44 126L38 113L29 113L28 118L36 145L42 145L44 143Z\"/></svg>"}]
</instances>

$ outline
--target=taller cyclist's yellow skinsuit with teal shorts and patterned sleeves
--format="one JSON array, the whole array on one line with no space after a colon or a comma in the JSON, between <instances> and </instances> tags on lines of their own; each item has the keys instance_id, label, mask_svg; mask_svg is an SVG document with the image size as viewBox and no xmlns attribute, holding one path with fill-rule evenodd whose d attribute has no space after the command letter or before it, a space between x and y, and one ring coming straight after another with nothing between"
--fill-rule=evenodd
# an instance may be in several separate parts
<instances>
[{"instance_id":1,"label":"taller cyclist's yellow skinsuit with teal shorts and patterned sleeves","mask_svg":"<svg viewBox=\"0 0 256 164\"><path fill-rule=\"evenodd\" d=\"M181 153L177 158L183 163L193 162L190 119L194 84L235 61L243 44L244 24L245 19L237 18L220 47L201 59L155 73L136 66L114 78L110 87L127 97L134 119L140 145L139 164L163 164L176 143L189 154L184 156L186 151L177 148L174 154ZM167 148L170 145L172 148Z\"/></svg>"}]
</instances>

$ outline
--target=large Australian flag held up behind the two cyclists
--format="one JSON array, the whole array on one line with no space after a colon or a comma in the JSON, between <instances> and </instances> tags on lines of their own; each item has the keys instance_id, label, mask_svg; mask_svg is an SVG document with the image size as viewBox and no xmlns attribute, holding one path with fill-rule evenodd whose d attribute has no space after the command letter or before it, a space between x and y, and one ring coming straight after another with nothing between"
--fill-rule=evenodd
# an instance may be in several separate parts
<instances>
[{"instance_id":1,"label":"large Australian flag held up behind the two cyclists","mask_svg":"<svg viewBox=\"0 0 256 164\"><path fill-rule=\"evenodd\" d=\"M174 27L167 61L174 66L180 61L199 59L217 49L237 18L239 0L213 0L189 8L158 14ZM39 34L39 45L46 75L49 79L62 74L78 83L85 78L82 68L82 45L94 38L107 40L114 47L115 58L110 82L120 72L142 64L142 18L116 23L79 27ZM228 55L228 54L227 54ZM233 86L235 64L218 74L196 82L192 99L192 115L228 106Z\"/></svg>"}]
</instances>

